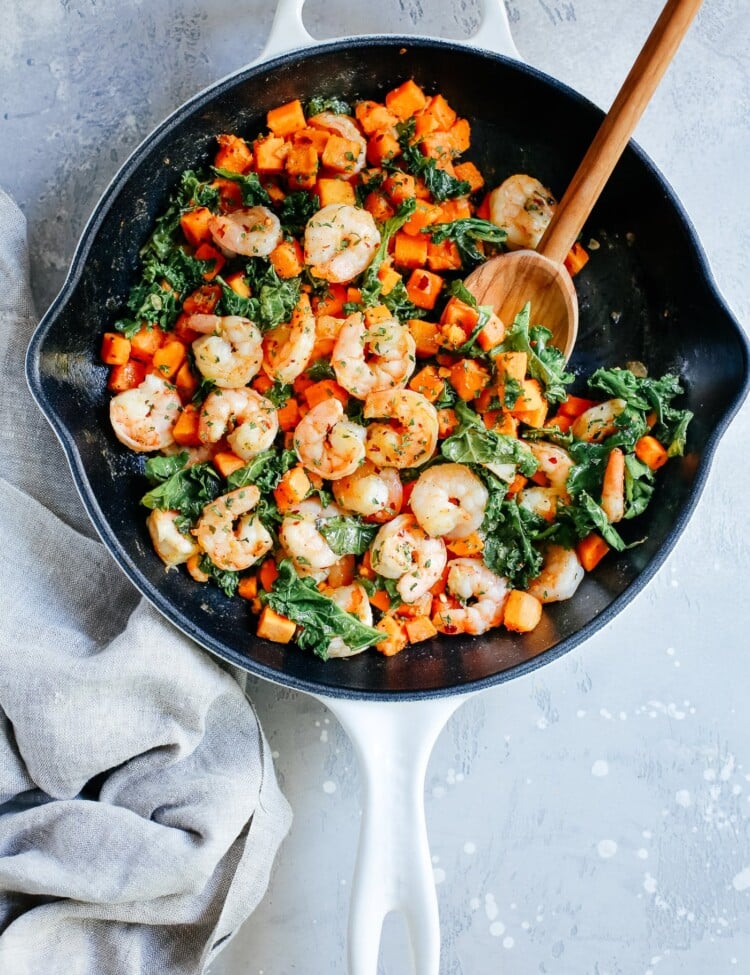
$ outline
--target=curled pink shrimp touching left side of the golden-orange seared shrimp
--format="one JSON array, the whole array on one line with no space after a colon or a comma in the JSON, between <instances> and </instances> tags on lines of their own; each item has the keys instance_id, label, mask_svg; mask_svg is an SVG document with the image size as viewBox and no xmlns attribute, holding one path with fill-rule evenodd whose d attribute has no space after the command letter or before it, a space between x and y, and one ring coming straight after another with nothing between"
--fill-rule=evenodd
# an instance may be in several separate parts
<instances>
[{"instance_id":1,"label":"curled pink shrimp touching left side of the golden-orange seared shrimp","mask_svg":"<svg viewBox=\"0 0 750 975\"><path fill-rule=\"evenodd\" d=\"M302 417L294 431L294 449L302 464L329 481L353 474L365 459L364 427L344 417L335 397L323 400Z\"/></svg>"}]
</instances>

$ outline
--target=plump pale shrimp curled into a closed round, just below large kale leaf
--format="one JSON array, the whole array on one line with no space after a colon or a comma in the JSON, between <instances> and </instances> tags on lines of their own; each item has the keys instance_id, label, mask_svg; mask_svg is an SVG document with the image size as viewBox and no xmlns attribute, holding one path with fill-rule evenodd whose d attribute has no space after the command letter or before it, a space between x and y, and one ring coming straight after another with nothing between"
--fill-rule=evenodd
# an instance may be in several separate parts
<instances>
[{"instance_id":1,"label":"plump pale shrimp curled into a closed round, just below large kale leaf","mask_svg":"<svg viewBox=\"0 0 750 975\"><path fill-rule=\"evenodd\" d=\"M465 464L436 464L419 475L409 504L428 535L454 541L479 528L488 497Z\"/></svg>"}]
</instances>

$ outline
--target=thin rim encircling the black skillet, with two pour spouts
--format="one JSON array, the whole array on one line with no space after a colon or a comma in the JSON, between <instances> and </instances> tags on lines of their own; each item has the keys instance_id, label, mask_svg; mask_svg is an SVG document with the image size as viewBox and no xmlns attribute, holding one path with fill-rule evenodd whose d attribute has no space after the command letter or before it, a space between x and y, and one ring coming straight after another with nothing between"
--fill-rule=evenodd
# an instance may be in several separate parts
<instances>
[{"instance_id":1,"label":"thin rim encircling the black skillet, with two pour spouts","mask_svg":"<svg viewBox=\"0 0 750 975\"><path fill-rule=\"evenodd\" d=\"M135 588L178 630L190 637L201 648L218 657L225 663L229 663L255 676L262 677L272 683L291 687L293 690L310 693L313 695L326 695L332 698L358 699L358 700L377 700L377 701L410 701L424 700L427 698L441 698L453 694L467 694L472 691L480 691L496 684L505 683L517 677L525 676L538 668L557 660L563 654L568 653L580 643L585 642L598 630L606 626L622 609L624 609L644 588L644 586L656 574L662 566L667 556L671 553L682 534L687 522L693 515L697 503L703 493L708 479L709 471L713 462L714 454L719 441L724 435L727 427L739 411L743 401L750 392L750 340L744 329L740 326L733 311L720 293L713 276L708 258L700 242L698 234L693 227L687 212L672 189L668 180L664 177L655 163L645 153L643 149L634 141L630 140L628 149L635 154L639 163L644 166L648 174L655 178L658 185L663 189L667 204L672 208L682 229L685 232L688 247L702 275L702 281L706 286L711 300L726 317L728 325L736 333L739 347L742 352L742 382L740 388L735 393L732 401L724 411L720 422L711 431L705 441L700 463L695 471L695 475L690 486L682 509L673 521L671 528L665 536L658 549L649 558L647 564L638 572L626 588L616 596L607 607L598 615L585 623L580 629L560 640L558 643L542 651L536 656L514 664L506 670L496 672L490 676L479 680L467 681L466 683L452 683L443 687L425 688L420 690L392 691L392 690L371 690L362 688L342 687L330 680L325 679L326 668L321 664L321 678L319 680L308 680L290 676L280 668L272 668L260 663L251 657L244 655L241 651L234 651L221 641L214 640L205 634L199 626L193 623L180 611L174 609L170 601L164 597L161 590L152 585L142 575L136 562L125 551L119 539L114 534L105 518L99 503L91 487L88 473L81 460L80 453L68 426L62 421L57 409L50 403L42 379L41 362L46 338L52 332L61 313L73 297L76 288L81 280L84 268L87 263L91 246L98 234L99 229L106 220L109 209L119 195L121 184L130 176L137 172L143 163L143 155L153 148L156 141L167 137L172 129L180 125L186 118L210 104L211 101L219 98L231 88L242 84L244 81L256 77L259 74L271 72L278 68L288 65L294 60L305 61L309 58L335 53L342 49L351 50L352 48L366 47L373 48L378 46L406 47L406 48L428 48L454 51L462 55L484 58L490 61L499 62L514 70L527 74L537 81L556 89L568 99L576 102L583 108L591 111L603 118L604 112L595 105L590 99L571 88L569 85L553 78L545 72L528 65L524 62L515 60L506 55L497 54L483 48L474 48L470 44L427 38L412 35L396 34L376 34L364 35L357 38L339 38L333 41L316 43L303 49L295 49L284 54L277 55L267 61L251 64L233 72L219 81L207 86L197 92L178 108L171 112L162 122L155 126L139 145L131 152L122 166L117 170L108 186L99 197L89 219L87 220L78 244L71 259L70 268L65 281L53 300L52 304L42 316L30 340L26 361L25 372L26 380L30 391L38 407L50 423L55 435L57 436L66 460L73 476L78 494L86 509L92 524L101 538L105 547L112 555L115 563L127 576ZM329 671L330 673L330 671Z\"/></svg>"}]
</instances>

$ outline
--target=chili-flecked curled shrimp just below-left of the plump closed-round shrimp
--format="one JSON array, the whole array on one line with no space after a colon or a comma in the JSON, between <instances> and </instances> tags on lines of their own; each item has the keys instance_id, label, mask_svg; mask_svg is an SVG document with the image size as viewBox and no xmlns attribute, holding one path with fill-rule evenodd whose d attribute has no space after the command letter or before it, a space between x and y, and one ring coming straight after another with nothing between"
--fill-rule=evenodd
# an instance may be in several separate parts
<instances>
[{"instance_id":1,"label":"chili-flecked curled shrimp just below-left of the plump closed-round shrimp","mask_svg":"<svg viewBox=\"0 0 750 975\"><path fill-rule=\"evenodd\" d=\"M398 579L396 589L405 603L416 602L435 585L447 558L442 538L430 538L413 515L398 515L383 525L370 546L373 569Z\"/></svg>"}]
</instances>

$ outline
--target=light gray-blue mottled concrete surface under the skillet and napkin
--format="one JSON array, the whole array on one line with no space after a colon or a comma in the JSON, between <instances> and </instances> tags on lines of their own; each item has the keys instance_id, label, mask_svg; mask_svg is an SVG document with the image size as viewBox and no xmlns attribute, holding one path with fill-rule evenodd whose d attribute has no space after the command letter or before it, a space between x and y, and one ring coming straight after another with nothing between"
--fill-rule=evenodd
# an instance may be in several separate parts
<instances>
[{"instance_id":1,"label":"light gray-blue mottled concrete surface under the skillet and napkin","mask_svg":"<svg viewBox=\"0 0 750 975\"><path fill-rule=\"evenodd\" d=\"M506 0L526 60L607 107L661 0ZM4 0L0 184L28 216L40 310L128 152L252 60L271 0ZM472 0L310 0L320 38L462 36ZM750 323L750 9L706 0L637 139ZM609 626L471 701L440 737L427 819L441 975L750 971L750 407L676 549ZM739 463L739 467L737 466ZM295 823L212 975L346 970L360 815L350 745L311 700L250 682ZM408 975L386 926L380 971Z\"/></svg>"}]
</instances>

